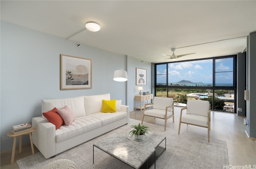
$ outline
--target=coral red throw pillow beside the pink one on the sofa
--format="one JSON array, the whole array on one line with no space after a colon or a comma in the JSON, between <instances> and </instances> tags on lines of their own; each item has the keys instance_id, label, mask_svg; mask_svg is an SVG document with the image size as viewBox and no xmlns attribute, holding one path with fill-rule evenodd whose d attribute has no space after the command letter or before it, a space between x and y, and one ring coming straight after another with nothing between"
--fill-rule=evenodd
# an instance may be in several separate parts
<instances>
[{"instance_id":1,"label":"coral red throw pillow beside the pink one on the sofa","mask_svg":"<svg viewBox=\"0 0 256 169\"><path fill-rule=\"evenodd\" d=\"M57 108L50 110L49 112L43 113L44 117L52 124L55 125L56 130L64 124L64 120L60 116L60 114L57 113Z\"/></svg>"}]
</instances>

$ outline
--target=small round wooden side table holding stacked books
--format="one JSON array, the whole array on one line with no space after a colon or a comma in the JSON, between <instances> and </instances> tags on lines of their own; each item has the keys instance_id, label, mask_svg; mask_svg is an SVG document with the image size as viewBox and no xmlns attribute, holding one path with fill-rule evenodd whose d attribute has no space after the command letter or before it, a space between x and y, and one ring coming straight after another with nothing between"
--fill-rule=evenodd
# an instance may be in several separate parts
<instances>
[{"instance_id":1,"label":"small round wooden side table holding stacked books","mask_svg":"<svg viewBox=\"0 0 256 169\"><path fill-rule=\"evenodd\" d=\"M13 137L13 145L12 145L12 159L11 159L11 164L14 163L14 154L15 154L15 146L16 146L16 138L20 137L20 141L19 141L19 153L21 153L21 147L22 147L22 135L25 134L29 134L29 138L30 138L30 143L31 143L31 149L32 149L32 154L35 155L35 151L34 151L34 145L33 145L33 141L32 141L32 132L34 132L36 130L36 128L32 127L31 130L27 130L18 134L14 134L12 131L10 131L7 136L9 137Z\"/></svg>"}]
</instances>

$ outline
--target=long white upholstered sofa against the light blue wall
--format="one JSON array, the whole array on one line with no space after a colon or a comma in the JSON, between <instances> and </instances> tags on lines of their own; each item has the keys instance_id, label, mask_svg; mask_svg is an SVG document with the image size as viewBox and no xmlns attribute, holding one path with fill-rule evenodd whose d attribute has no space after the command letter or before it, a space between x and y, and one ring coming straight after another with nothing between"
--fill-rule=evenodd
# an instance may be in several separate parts
<instances>
[{"instance_id":1,"label":"long white upholstered sofa against the light blue wall","mask_svg":"<svg viewBox=\"0 0 256 169\"><path fill-rule=\"evenodd\" d=\"M36 128L32 133L34 145L45 158L49 158L130 121L129 106L116 100L115 113L102 113L102 100L110 100L110 94L42 100L42 113L54 107L68 106L75 114L75 120L69 126L63 124L56 130L44 116L32 118L32 126Z\"/></svg>"}]
</instances>

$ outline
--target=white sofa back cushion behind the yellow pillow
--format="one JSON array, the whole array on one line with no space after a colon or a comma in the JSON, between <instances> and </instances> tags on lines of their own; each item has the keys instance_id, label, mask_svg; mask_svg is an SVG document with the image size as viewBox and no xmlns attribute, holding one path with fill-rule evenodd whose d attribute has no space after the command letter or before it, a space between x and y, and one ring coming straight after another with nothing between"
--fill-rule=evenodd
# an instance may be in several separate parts
<instances>
[{"instance_id":1,"label":"white sofa back cushion behind the yellow pillow","mask_svg":"<svg viewBox=\"0 0 256 169\"><path fill-rule=\"evenodd\" d=\"M110 93L84 96L84 107L86 115L101 112L102 100L110 100Z\"/></svg>"}]
</instances>

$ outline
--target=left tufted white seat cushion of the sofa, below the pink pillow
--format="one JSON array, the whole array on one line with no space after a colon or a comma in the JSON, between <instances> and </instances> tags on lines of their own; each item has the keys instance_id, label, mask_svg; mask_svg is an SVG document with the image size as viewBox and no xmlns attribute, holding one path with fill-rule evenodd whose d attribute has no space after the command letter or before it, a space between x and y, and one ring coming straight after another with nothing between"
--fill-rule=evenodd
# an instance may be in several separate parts
<instances>
[{"instance_id":1,"label":"left tufted white seat cushion of the sofa, below the pink pillow","mask_svg":"<svg viewBox=\"0 0 256 169\"><path fill-rule=\"evenodd\" d=\"M101 121L97 118L81 116L72 122L69 126L63 124L56 130L56 142L64 141L73 138L90 130L101 127Z\"/></svg>"}]
</instances>

